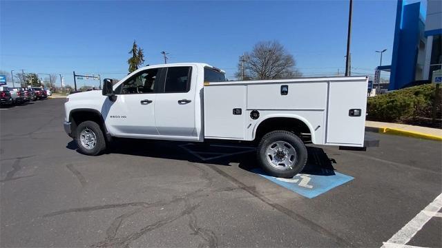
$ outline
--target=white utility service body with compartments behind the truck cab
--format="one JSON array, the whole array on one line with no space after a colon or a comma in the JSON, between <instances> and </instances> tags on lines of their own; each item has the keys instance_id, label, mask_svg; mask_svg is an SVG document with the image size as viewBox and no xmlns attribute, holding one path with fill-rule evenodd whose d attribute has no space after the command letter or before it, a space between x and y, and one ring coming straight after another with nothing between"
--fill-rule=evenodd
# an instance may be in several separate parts
<instances>
[{"instance_id":1,"label":"white utility service body with compartments behind the truck cab","mask_svg":"<svg viewBox=\"0 0 442 248\"><path fill-rule=\"evenodd\" d=\"M262 121L287 117L304 122L314 144L362 147L367 83L367 76L204 83L204 138L253 141Z\"/></svg>"}]
</instances>

